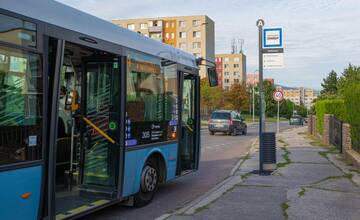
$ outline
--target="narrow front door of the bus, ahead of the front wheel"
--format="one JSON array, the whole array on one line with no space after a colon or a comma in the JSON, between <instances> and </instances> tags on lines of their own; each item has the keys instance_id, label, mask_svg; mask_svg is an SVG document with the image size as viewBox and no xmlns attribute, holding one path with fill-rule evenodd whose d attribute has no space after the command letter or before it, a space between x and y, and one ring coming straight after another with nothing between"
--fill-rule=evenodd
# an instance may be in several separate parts
<instances>
[{"instance_id":1,"label":"narrow front door of the bus, ahead of the front wheel","mask_svg":"<svg viewBox=\"0 0 360 220\"><path fill-rule=\"evenodd\" d=\"M181 171L196 169L196 87L195 77L183 75L181 107Z\"/></svg>"}]
</instances>

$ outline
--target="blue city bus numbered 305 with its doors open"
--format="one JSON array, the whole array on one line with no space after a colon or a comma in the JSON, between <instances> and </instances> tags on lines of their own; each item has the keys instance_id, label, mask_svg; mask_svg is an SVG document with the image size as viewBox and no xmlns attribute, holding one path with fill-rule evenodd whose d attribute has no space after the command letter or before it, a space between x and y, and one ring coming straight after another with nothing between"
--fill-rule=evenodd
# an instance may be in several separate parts
<instances>
[{"instance_id":1,"label":"blue city bus numbered 305 with its doors open","mask_svg":"<svg viewBox=\"0 0 360 220\"><path fill-rule=\"evenodd\" d=\"M199 65L56 1L0 1L0 219L144 206L196 171Z\"/></svg>"}]
</instances>

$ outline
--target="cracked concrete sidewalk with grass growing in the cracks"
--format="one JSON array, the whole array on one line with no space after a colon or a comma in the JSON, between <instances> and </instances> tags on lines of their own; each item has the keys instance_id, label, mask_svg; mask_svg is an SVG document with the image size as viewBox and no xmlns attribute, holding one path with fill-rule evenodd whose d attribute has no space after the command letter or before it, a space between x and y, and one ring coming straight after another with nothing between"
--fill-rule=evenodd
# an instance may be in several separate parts
<instances>
[{"instance_id":1,"label":"cracked concrete sidewalk with grass growing in the cracks","mask_svg":"<svg viewBox=\"0 0 360 220\"><path fill-rule=\"evenodd\" d=\"M306 128L277 136L278 169L258 169L258 152L202 198L167 219L360 219L360 173L330 148L316 146ZM313 146L315 145L315 146Z\"/></svg>"}]
</instances>

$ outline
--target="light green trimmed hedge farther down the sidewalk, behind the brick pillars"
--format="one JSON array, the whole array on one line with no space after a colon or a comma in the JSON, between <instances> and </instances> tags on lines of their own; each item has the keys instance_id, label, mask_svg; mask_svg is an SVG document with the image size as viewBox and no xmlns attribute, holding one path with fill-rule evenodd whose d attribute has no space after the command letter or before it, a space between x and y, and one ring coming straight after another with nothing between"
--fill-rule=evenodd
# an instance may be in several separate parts
<instances>
[{"instance_id":1,"label":"light green trimmed hedge farther down the sidewalk, behind the brick pillars","mask_svg":"<svg viewBox=\"0 0 360 220\"><path fill-rule=\"evenodd\" d=\"M333 114L336 118L347 121L347 113L344 100L342 99L325 99L315 103L317 130L320 134L324 130L324 115Z\"/></svg>"}]
</instances>

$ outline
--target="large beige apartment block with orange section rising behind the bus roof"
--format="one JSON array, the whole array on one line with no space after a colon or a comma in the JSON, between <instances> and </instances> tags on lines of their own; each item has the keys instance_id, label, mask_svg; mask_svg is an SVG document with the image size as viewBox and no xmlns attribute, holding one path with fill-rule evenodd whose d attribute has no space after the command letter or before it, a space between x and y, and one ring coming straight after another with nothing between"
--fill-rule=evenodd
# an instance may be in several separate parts
<instances>
[{"instance_id":1,"label":"large beige apartment block with orange section rising behind the bus roof","mask_svg":"<svg viewBox=\"0 0 360 220\"><path fill-rule=\"evenodd\" d=\"M215 61L215 24L206 15L138 19L116 19L112 22L173 47ZM206 67L200 66L206 77Z\"/></svg>"}]
</instances>

